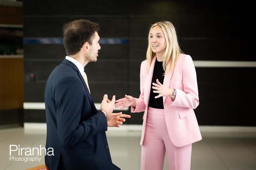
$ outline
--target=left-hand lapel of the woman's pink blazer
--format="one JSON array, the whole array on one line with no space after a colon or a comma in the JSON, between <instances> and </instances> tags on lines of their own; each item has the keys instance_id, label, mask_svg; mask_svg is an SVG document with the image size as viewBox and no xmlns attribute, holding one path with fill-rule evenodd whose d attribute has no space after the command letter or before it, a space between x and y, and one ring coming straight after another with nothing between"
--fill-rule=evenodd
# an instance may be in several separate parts
<instances>
[{"instance_id":1,"label":"left-hand lapel of the woman's pink blazer","mask_svg":"<svg viewBox=\"0 0 256 170\"><path fill-rule=\"evenodd\" d=\"M156 56L152 59L152 62L150 64L149 72L146 74L145 78L145 85L144 85L144 101L146 101L146 105L148 105L149 101L149 95L150 95L150 88L152 88L152 76L153 76L153 71L155 67L155 62L156 62Z\"/></svg>"}]
</instances>

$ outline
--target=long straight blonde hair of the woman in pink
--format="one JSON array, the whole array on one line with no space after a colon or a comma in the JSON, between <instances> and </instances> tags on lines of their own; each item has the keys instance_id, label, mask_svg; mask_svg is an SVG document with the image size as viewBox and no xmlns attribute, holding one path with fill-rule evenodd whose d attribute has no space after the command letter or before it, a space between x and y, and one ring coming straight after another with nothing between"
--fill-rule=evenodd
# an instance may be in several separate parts
<instances>
[{"instance_id":1,"label":"long straight blonde hair of the woman in pink","mask_svg":"<svg viewBox=\"0 0 256 170\"><path fill-rule=\"evenodd\" d=\"M152 58L155 56L155 53L152 51L151 45L150 45L150 32L152 28L155 26L160 26L162 28L165 39L166 39L166 50L163 56L164 58L163 68L164 68L164 75L165 75L168 71L173 72L175 64L178 60L179 55L182 53L182 51L178 44L175 27L170 21L160 21L151 25L148 33L148 47L147 47L147 54L146 54L146 59L148 61L147 72L149 71ZM170 64L170 68L166 70L168 64Z\"/></svg>"}]
</instances>

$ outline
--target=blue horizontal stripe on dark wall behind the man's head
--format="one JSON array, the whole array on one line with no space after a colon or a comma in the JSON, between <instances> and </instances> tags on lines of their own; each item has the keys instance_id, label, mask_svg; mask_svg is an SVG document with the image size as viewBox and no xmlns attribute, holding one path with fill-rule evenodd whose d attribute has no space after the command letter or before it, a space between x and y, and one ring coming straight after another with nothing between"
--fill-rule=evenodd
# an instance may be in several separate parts
<instances>
[{"instance_id":1,"label":"blue horizontal stripe on dark wall behind the man's head","mask_svg":"<svg viewBox=\"0 0 256 170\"><path fill-rule=\"evenodd\" d=\"M128 44L127 38L101 38L100 44ZM63 38L23 38L23 44L63 44Z\"/></svg>"}]
</instances>

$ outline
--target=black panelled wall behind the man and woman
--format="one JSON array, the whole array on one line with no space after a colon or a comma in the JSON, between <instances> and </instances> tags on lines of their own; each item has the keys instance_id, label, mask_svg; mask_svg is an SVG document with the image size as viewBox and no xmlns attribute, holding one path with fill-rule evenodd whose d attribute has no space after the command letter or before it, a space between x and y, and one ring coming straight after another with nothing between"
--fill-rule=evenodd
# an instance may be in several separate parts
<instances>
[{"instance_id":1,"label":"black panelled wall behind the man and woman","mask_svg":"<svg viewBox=\"0 0 256 170\"><path fill-rule=\"evenodd\" d=\"M150 24L171 21L181 49L194 61L252 61L252 4L217 1L23 1L25 102L44 102L46 80L65 58L59 42L62 26L75 19L100 25L98 61L86 65L95 102L103 95L139 97L140 63L145 59ZM199 125L255 126L255 67L197 67ZM31 81L30 74L35 75ZM128 112L126 112L128 113ZM127 124L141 124L143 113L131 113ZM25 122L45 122L44 110L25 110Z\"/></svg>"}]
</instances>

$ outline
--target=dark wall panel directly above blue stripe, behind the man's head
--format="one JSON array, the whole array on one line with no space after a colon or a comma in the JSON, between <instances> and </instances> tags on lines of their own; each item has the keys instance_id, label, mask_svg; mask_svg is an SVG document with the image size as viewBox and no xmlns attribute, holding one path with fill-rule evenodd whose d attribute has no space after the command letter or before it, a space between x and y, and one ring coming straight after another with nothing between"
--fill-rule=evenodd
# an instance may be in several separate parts
<instances>
[{"instance_id":1,"label":"dark wall panel directly above blue stripe, behind the man's head","mask_svg":"<svg viewBox=\"0 0 256 170\"><path fill-rule=\"evenodd\" d=\"M24 16L25 37L63 37L63 24L77 19L88 19L100 25L101 37L127 37L128 17L92 16ZM36 24L35 24L36 23Z\"/></svg>"}]
</instances>

